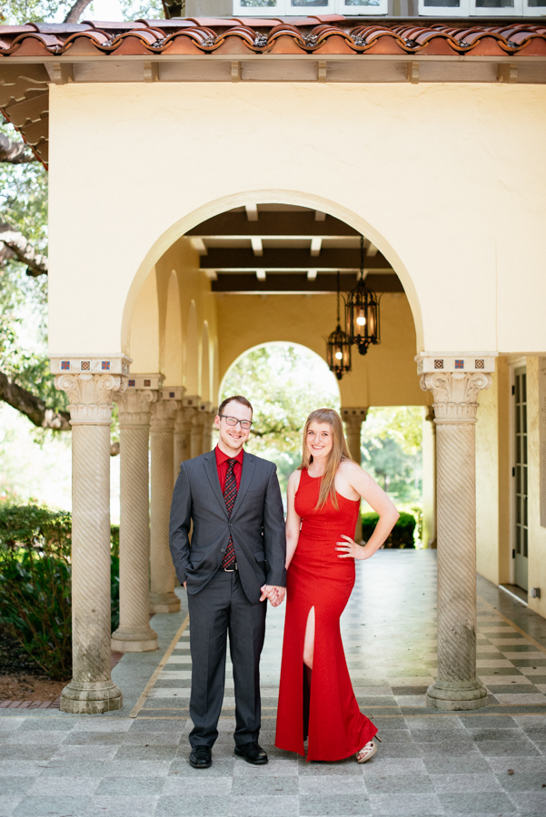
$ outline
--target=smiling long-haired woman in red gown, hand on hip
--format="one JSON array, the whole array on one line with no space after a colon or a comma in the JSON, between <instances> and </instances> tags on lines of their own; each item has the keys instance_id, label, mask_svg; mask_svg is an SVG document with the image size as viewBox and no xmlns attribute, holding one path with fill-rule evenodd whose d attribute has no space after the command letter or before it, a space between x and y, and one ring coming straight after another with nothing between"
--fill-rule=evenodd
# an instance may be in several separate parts
<instances>
[{"instance_id":1,"label":"smiling long-haired woman in red gown, hand on hip","mask_svg":"<svg viewBox=\"0 0 546 817\"><path fill-rule=\"evenodd\" d=\"M379 514L362 547L354 530L363 497ZM352 461L342 420L331 408L307 418L303 461L288 480L287 606L275 745L308 761L377 752L376 727L352 691L340 616L354 586L354 560L369 559L391 533L398 512L372 477Z\"/></svg>"}]
</instances>

